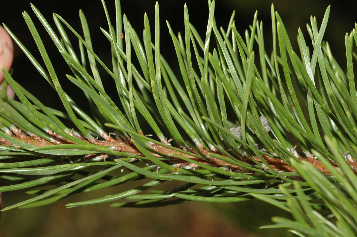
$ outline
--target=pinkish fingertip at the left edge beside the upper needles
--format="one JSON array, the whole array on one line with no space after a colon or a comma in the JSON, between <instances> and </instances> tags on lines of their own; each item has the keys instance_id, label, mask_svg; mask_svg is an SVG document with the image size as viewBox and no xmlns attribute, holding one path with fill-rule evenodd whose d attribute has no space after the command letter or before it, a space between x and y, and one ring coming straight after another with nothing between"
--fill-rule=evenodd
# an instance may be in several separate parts
<instances>
[{"instance_id":1,"label":"pinkish fingertip at the left edge beside the upper needles","mask_svg":"<svg viewBox=\"0 0 357 237\"><path fill-rule=\"evenodd\" d=\"M7 71L10 70L12 60L14 59L14 46L12 40L6 30L0 26L0 66L4 67ZM4 80L4 74L0 70L0 84ZM14 98L15 93L10 86L6 88L7 95Z\"/></svg>"}]
</instances>

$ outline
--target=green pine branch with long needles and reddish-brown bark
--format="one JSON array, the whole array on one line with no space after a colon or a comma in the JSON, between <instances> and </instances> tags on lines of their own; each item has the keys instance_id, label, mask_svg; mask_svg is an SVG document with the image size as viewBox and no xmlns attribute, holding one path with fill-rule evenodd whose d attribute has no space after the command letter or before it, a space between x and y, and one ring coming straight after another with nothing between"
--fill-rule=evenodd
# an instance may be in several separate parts
<instances>
[{"instance_id":1,"label":"green pine branch with long needles and reddish-brown bark","mask_svg":"<svg viewBox=\"0 0 357 237\"><path fill-rule=\"evenodd\" d=\"M154 27L145 14L141 35L122 14L119 0L112 18L104 0L102 5L108 25L101 31L111 45L111 65L92 49L96 39L91 39L82 11L82 29L57 14L50 24L34 5L34 16L23 13L42 59L35 59L4 25L65 110L47 107L2 69L4 83L19 100L8 98L5 90L0 93L0 180L9 184L0 192L24 191L24 201L2 211L49 205L123 183L130 187L141 180L126 191L67 207L258 198L293 216L274 217L275 225L262 228L288 228L298 236L357 233L357 25L346 34L345 47L335 49L346 50L346 67L323 41L330 6L321 24L311 17L306 30L298 29L298 49L292 48L272 6L272 32L265 35L272 35L273 51L266 52L257 12L240 34L234 11L228 27L216 25L215 1L209 0L207 31L201 37L190 24L186 5L184 32L177 34L169 22L160 28L156 4L155 19L150 19ZM35 19L71 75L54 70L57 59L47 55L52 46L43 44ZM160 53L160 31L166 30L172 42L165 44L174 45L171 55L179 71ZM71 42L73 36L78 41ZM310 40L312 47L306 43ZM104 78L116 86L116 96L107 94ZM63 80L83 92L90 114L66 94ZM171 185L161 185L167 182Z\"/></svg>"}]
</instances>

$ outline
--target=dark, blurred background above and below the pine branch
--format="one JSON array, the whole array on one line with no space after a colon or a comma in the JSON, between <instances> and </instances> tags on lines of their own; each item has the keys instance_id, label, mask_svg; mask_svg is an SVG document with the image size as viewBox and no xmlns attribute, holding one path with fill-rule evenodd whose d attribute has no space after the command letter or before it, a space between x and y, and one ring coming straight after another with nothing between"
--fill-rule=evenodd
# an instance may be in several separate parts
<instances>
[{"instance_id":1,"label":"dark, blurred background above and below the pine branch","mask_svg":"<svg viewBox=\"0 0 357 237\"><path fill-rule=\"evenodd\" d=\"M122 12L125 13L141 36L144 28L143 16L146 11L151 24L154 22L154 0L122 0ZM161 0L161 53L169 61L175 70L177 59L172 45L171 37L167 31L165 20L167 19L174 32L183 32L183 0ZM306 23L310 22L310 15L317 17L320 25L326 7L331 4L329 23L324 40L330 42L333 54L345 67L345 34L350 32L356 21L356 8L348 4L348 1L272 1L282 17L293 44L298 51L296 35L298 27L301 27L305 39L308 41ZM215 17L218 26L227 27L233 10L236 10L236 26L241 34L249 24L252 24L253 14L258 10L258 20L263 20L265 48L271 51L271 1L244 1L244 0L217 0ZM47 21L55 27L52 20L52 12L56 12L66 19L76 30L80 31L81 25L78 10L82 9L90 26L94 51L107 64L110 62L110 45L102 35L99 27L107 29L107 22L100 1L84 0L32 0L32 3L42 12ZM114 1L106 1L114 22ZM195 25L201 36L204 36L208 19L208 6L206 0L187 0L190 21ZM0 4L0 22L14 32L30 52L41 62L35 42L27 29L21 15L27 11L37 26L42 36L50 58L55 63L55 70L62 87L68 92L76 103L83 109L87 107L81 92L74 88L65 77L70 73L61 55L57 51L50 37L33 14L27 1L2 0ZM152 30L153 31L153 30ZM69 31L67 31L69 33ZM69 34L72 44L74 40ZM213 41L211 41L213 42ZM39 75L32 64L22 54L18 47L15 48L14 59L15 80L45 102L46 105L63 110L59 97L49 84ZM100 68L100 66L99 66ZM100 69L101 70L101 69ZM179 72L178 70L176 70ZM103 72L102 70L100 72ZM102 80L109 94L110 88L114 88L112 80L101 73ZM79 92L79 93L78 93ZM112 190L106 191L110 193ZM88 194L86 194L88 195ZM2 214L0 221L0 236L277 236L285 235L285 232L257 230L261 225L269 224L270 217L284 215L270 205L258 201L249 201L238 204L212 205L206 203L185 203L175 207L156 209L115 209L108 205L84 207L67 210L64 205L74 200L83 198L82 194L71 197L71 200L62 200L55 205L30 210L11 210ZM3 193L4 206L21 201L20 192ZM86 196L86 198L89 198ZM263 222L265 220L266 222Z\"/></svg>"}]
</instances>

